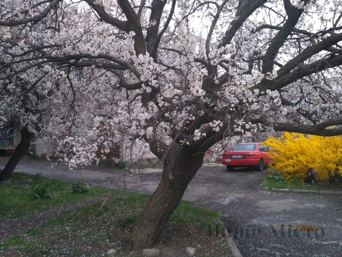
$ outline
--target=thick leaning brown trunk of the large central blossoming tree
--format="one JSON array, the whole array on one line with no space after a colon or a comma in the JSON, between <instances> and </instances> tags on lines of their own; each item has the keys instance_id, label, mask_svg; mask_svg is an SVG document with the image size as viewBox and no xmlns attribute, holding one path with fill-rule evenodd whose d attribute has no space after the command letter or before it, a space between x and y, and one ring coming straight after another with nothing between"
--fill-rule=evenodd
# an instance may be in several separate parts
<instances>
[{"instance_id":1,"label":"thick leaning brown trunk of the large central blossoming tree","mask_svg":"<svg viewBox=\"0 0 342 257\"><path fill-rule=\"evenodd\" d=\"M128 243L133 249L157 242L189 182L202 166L204 154L174 145L166 154L161 181L136 221Z\"/></svg>"}]
</instances>

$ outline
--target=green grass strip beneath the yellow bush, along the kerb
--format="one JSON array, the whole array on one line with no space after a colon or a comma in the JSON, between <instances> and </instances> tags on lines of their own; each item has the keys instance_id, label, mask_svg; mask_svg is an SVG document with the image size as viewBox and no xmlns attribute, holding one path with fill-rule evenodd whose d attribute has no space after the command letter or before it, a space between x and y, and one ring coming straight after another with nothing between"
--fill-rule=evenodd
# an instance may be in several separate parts
<instances>
[{"instance_id":1,"label":"green grass strip beneath the yellow bush, along the kerb","mask_svg":"<svg viewBox=\"0 0 342 257\"><path fill-rule=\"evenodd\" d=\"M273 176L268 173L266 174L266 181L262 184L262 186L268 188L285 188L285 189L306 189L306 190L338 190L341 191L342 187L336 184L329 183L328 180L319 181L319 184L308 184L305 182L300 181L298 178L286 180L284 179L277 179L272 178ZM271 178L270 178L271 177Z\"/></svg>"}]
</instances>

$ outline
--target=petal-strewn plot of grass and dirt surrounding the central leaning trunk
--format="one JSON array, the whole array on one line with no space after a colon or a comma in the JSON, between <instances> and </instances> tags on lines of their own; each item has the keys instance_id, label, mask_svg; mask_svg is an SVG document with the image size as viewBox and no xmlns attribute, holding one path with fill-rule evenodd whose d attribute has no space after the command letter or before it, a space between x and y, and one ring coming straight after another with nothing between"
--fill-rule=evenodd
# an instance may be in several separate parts
<instances>
[{"instance_id":1,"label":"petal-strewn plot of grass and dirt surrounding the central leaning trunk","mask_svg":"<svg viewBox=\"0 0 342 257\"><path fill-rule=\"evenodd\" d=\"M116 249L118 257L142 257L142 249L128 248L126 238L149 197L118 193L106 204L98 198L88 199L5 221L0 256L97 257L107 256L110 249ZM212 211L186 201L179 208L159 242L149 248L159 249L160 257L186 256L188 246L196 248L196 257L230 256L222 234L223 225ZM219 232L216 232L216 223L220 224Z\"/></svg>"}]
</instances>

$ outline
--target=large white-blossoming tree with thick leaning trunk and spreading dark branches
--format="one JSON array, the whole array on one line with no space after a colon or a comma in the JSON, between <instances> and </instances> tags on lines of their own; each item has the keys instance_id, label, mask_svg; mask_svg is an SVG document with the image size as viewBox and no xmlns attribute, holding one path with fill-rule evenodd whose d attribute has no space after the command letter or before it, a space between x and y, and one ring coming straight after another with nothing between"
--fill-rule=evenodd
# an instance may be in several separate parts
<instances>
[{"instance_id":1,"label":"large white-blossoming tree with thick leaning trunk and spreading dark branches","mask_svg":"<svg viewBox=\"0 0 342 257\"><path fill-rule=\"evenodd\" d=\"M152 244L221 139L342 134L341 13L335 0L3 0L0 123L25 113L22 128L73 148L70 167L145 142L164 168L128 242Z\"/></svg>"}]
</instances>

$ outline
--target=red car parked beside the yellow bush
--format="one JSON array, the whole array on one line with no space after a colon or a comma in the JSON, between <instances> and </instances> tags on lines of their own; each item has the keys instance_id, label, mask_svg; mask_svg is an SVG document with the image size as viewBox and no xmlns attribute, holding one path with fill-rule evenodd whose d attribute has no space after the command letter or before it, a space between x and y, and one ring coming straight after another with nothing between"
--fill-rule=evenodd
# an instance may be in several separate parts
<instances>
[{"instance_id":1,"label":"red car parked beside the yellow bush","mask_svg":"<svg viewBox=\"0 0 342 257\"><path fill-rule=\"evenodd\" d=\"M255 166L257 170L264 170L271 158L267 155L267 146L260 143L244 143L234 146L233 151L224 152L222 164L227 171L233 171L235 167Z\"/></svg>"}]
</instances>

